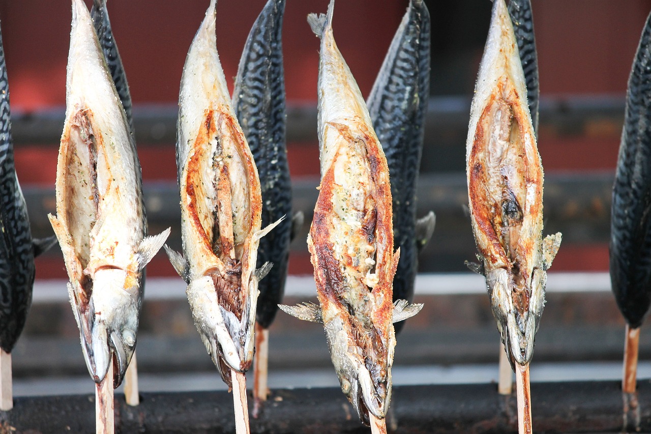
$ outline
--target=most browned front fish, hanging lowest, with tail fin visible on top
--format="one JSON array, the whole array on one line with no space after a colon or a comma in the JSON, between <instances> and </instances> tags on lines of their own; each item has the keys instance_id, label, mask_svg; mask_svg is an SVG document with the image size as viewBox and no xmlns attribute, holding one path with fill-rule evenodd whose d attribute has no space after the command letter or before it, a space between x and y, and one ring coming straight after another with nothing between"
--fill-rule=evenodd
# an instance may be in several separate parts
<instances>
[{"instance_id":1,"label":"most browned front fish, hanging lowest, with tail fin visible on top","mask_svg":"<svg viewBox=\"0 0 651 434\"><path fill-rule=\"evenodd\" d=\"M320 306L281 308L324 324L341 389L361 420L383 418L391 399L396 340L393 322L422 305L393 304L391 187L382 147L359 87L344 61L327 16L311 14L321 38L318 130L320 193L307 246Z\"/></svg>"}]
</instances>

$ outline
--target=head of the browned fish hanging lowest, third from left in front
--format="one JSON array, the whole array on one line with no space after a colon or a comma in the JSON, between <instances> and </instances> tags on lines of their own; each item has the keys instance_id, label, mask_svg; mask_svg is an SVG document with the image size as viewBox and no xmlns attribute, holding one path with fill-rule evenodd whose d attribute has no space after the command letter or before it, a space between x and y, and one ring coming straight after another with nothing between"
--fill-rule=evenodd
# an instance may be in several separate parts
<instances>
[{"instance_id":1,"label":"head of the browned fish hanging lowest, third from left in front","mask_svg":"<svg viewBox=\"0 0 651 434\"><path fill-rule=\"evenodd\" d=\"M324 328L341 391L360 420L369 424L369 412L376 418L384 418L391 401L391 366L396 343L393 325L387 351L374 351L372 343L355 340L356 334L350 330L350 318L346 315L324 321ZM380 339L376 340L376 345L379 342ZM376 358L367 363L363 354L374 354Z\"/></svg>"}]
</instances>

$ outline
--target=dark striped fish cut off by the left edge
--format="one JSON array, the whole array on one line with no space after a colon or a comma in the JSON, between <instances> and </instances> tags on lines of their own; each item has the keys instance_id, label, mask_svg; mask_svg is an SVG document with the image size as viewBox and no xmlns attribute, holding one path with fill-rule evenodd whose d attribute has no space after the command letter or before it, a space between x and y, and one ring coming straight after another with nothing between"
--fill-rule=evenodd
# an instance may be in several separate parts
<instances>
[{"instance_id":1,"label":"dark striped fish cut off by the left edge","mask_svg":"<svg viewBox=\"0 0 651 434\"><path fill-rule=\"evenodd\" d=\"M32 302L34 250L29 217L14 167L9 85L0 33L0 347L10 353Z\"/></svg>"}]
</instances>

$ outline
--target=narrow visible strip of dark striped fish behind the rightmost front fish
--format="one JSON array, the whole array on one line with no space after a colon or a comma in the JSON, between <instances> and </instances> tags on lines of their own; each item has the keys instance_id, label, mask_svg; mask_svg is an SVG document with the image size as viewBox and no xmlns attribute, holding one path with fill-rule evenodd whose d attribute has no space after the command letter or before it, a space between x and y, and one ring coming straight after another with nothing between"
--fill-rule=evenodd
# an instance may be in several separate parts
<instances>
[{"instance_id":1,"label":"narrow visible strip of dark striped fish behind the rightmost front fish","mask_svg":"<svg viewBox=\"0 0 651 434\"><path fill-rule=\"evenodd\" d=\"M533 33L533 13L531 0L510 0L508 14L511 16L513 29L518 41L518 51L522 69L525 72L527 83L527 102L533 130L538 134L538 99L540 89L538 85L538 55L536 54L536 38Z\"/></svg>"}]
</instances>

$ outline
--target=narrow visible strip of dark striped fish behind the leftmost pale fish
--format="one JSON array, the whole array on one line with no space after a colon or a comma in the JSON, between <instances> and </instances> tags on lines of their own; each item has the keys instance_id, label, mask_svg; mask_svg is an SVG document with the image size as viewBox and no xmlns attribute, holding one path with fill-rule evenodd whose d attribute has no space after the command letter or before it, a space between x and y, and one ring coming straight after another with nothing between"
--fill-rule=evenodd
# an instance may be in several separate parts
<instances>
[{"instance_id":1,"label":"narrow visible strip of dark striped fish behind the leftmost pale fish","mask_svg":"<svg viewBox=\"0 0 651 434\"><path fill-rule=\"evenodd\" d=\"M117 89L118 96L120 96L120 102L122 102L122 108L124 108L124 114L129 123L129 130L133 134L132 102L129 83L126 81L122 59L120 58L118 46L113 37L113 30L111 30L111 21L109 20L109 12L106 9L106 0L92 1L90 18L92 18L95 32L100 40L100 46L104 52L104 59L109 67L115 89Z\"/></svg>"}]
</instances>

